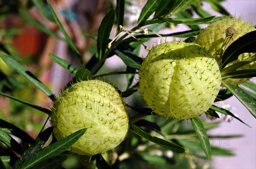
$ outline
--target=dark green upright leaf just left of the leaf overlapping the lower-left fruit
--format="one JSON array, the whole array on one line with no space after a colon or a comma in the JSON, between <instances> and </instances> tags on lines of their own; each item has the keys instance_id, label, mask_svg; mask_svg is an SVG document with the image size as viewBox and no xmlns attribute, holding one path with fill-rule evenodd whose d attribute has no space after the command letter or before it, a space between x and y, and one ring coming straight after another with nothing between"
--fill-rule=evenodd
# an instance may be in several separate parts
<instances>
[{"instance_id":1,"label":"dark green upright leaf just left of the leaf overlapping the lower-left fruit","mask_svg":"<svg viewBox=\"0 0 256 169\"><path fill-rule=\"evenodd\" d=\"M35 143L29 146L25 152L22 153L20 158L17 160L13 169L16 169L21 163L32 157L35 153L39 152L44 146L50 135L52 134L53 127L49 127L43 132L39 133L38 137L35 139Z\"/></svg>"}]
</instances>

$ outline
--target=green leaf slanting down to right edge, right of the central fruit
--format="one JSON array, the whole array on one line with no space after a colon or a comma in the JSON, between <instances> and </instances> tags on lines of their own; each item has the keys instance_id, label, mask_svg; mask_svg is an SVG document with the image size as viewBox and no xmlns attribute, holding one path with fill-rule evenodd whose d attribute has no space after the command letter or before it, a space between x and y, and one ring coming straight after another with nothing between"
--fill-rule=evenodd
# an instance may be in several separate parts
<instances>
[{"instance_id":1,"label":"green leaf slanting down to right edge, right of the central fruit","mask_svg":"<svg viewBox=\"0 0 256 169\"><path fill-rule=\"evenodd\" d=\"M256 118L256 103L255 100L244 92L240 87L228 84L226 82L222 82L225 87L227 87L230 92L236 96L236 98L243 104L247 110Z\"/></svg>"}]
</instances>

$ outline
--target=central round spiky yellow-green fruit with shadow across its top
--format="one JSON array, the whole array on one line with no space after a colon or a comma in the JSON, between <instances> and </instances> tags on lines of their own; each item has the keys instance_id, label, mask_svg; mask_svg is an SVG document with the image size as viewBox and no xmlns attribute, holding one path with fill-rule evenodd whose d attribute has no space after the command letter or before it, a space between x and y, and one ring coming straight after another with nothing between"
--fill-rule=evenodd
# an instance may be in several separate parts
<instances>
[{"instance_id":1,"label":"central round spiky yellow-green fruit with shadow across its top","mask_svg":"<svg viewBox=\"0 0 256 169\"><path fill-rule=\"evenodd\" d=\"M198 44L154 46L140 68L140 91L159 115L178 120L205 113L221 85L218 63Z\"/></svg>"}]
</instances>

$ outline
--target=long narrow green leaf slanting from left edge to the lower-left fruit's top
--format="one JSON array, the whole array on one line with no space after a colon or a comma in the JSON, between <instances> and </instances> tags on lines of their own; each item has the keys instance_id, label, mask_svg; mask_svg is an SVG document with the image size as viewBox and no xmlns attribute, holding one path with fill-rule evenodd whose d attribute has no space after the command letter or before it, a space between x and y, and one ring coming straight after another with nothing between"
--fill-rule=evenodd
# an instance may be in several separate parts
<instances>
[{"instance_id":1,"label":"long narrow green leaf slanting from left edge to the lower-left fruit's top","mask_svg":"<svg viewBox=\"0 0 256 169\"><path fill-rule=\"evenodd\" d=\"M33 86L47 94L52 101L55 100L55 96L52 93L51 90L49 90L48 87L46 87L40 80L38 80L32 73L29 72L24 66L20 65L16 60L12 59L11 57L0 54L0 57L3 59L4 62L6 62L6 65L8 65L11 69L15 70L17 73L19 73L22 77L24 77L29 83L31 83Z\"/></svg>"}]
</instances>

